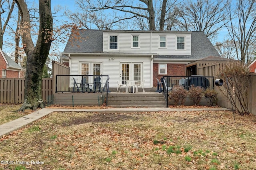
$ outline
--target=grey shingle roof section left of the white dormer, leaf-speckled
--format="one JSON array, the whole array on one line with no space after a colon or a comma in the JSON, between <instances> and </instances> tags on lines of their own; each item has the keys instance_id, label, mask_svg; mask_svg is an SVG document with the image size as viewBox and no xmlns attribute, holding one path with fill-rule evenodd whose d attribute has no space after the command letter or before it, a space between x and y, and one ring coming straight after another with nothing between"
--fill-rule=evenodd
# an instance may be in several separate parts
<instances>
[{"instance_id":1,"label":"grey shingle roof section left of the white dormer, leaf-speckled","mask_svg":"<svg viewBox=\"0 0 256 170\"><path fill-rule=\"evenodd\" d=\"M103 51L102 30L72 30L64 49L69 53L101 53Z\"/></svg>"}]
</instances>

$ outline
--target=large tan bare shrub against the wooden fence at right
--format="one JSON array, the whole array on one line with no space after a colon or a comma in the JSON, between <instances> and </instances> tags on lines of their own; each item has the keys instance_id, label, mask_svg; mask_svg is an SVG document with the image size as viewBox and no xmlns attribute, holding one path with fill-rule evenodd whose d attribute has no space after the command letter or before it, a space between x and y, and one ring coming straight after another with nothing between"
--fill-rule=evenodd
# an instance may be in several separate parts
<instances>
[{"instance_id":1,"label":"large tan bare shrub against the wooden fence at right","mask_svg":"<svg viewBox=\"0 0 256 170\"><path fill-rule=\"evenodd\" d=\"M219 89L230 100L240 115L249 114L248 88L250 84L249 67L238 61L226 64L217 72L223 80L223 87Z\"/></svg>"}]
</instances>

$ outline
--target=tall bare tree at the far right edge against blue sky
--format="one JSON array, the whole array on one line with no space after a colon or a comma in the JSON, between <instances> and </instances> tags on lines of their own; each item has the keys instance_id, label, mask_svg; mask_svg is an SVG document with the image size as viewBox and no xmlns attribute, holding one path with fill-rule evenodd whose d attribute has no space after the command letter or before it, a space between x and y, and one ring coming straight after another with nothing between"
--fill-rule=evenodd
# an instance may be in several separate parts
<instances>
[{"instance_id":1,"label":"tall bare tree at the far right edge against blue sky","mask_svg":"<svg viewBox=\"0 0 256 170\"><path fill-rule=\"evenodd\" d=\"M256 42L256 1L237 0L236 6L229 0L226 5L230 22L226 24L230 38L236 48L237 59L246 63L254 51L250 47Z\"/></svg>"}]
</instances>

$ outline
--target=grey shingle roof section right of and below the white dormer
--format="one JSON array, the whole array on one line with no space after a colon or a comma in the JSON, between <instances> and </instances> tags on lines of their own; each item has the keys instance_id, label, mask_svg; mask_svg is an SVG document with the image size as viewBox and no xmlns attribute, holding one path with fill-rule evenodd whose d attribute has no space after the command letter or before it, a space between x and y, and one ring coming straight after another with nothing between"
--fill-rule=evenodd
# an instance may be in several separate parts
<instances>
[{"instance_id":1,"label":"grey shingle roof section right of and below the white dormer","mask_svg":"<svg viewBox=\"0 0 256 170\"><path fill-rule=\"evenodd\" d=\"M191 55L159 55L156 59L198 60L206 57L220 57L218 51L202 31L191 32Z\"/></svg>"}]
</instances>

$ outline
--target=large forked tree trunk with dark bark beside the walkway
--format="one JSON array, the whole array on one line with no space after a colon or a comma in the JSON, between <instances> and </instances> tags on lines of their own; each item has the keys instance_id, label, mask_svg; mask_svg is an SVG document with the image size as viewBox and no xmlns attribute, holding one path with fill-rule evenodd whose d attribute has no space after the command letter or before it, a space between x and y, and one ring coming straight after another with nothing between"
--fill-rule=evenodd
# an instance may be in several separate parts
<instances>
[{"instance_id":1,"label":"large forked tree trunk with dark bark beside the walkway","mask_svg":"<svg viewBox=\"0 0 256 170\"><path fill-rule=\"evenodd\" d=\"M15 0L21 13L22 43L27 55L24 104L20 110L43 108L42 73L52 43L53 19L51 0L39 1L40 25L38 39L34 45L30 33L30 14L24 0Z\"/></svg>"}]
</instances>

